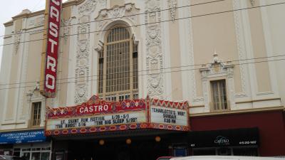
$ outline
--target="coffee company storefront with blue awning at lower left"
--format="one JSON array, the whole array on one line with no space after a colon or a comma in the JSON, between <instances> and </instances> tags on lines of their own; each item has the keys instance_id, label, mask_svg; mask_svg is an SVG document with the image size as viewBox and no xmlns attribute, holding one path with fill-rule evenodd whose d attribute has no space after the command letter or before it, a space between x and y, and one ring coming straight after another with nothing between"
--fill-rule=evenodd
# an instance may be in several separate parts
<instances>
[{"instance_id":1,"label":"coffee company storefront with blue awning at lower left","mask_svg":"<svg viewBox=\"0 0 285 160\"><path fill-rule=\"evenodd\" d=\"M24 157L26 160L49 160L51 143L44 129L0 133L0 154Z\"/></svg>"}]
</instances>

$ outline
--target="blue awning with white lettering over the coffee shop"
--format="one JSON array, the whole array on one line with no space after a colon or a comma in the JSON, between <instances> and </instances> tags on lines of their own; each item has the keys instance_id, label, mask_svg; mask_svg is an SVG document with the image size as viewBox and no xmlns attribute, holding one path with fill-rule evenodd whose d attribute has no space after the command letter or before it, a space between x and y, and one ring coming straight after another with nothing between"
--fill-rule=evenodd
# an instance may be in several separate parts
<instances>
[{"instance_id":1,"label":"blue awning with white lettering over the coffee shop","mask_svg":"<svg viewBox=\"0 0 285 160\"><path fill-rule=\"evenodd\" d=\"M43 129L0 132L0 144L21 144L31 142L46 142Z\"/></svg>"}]
</instances>

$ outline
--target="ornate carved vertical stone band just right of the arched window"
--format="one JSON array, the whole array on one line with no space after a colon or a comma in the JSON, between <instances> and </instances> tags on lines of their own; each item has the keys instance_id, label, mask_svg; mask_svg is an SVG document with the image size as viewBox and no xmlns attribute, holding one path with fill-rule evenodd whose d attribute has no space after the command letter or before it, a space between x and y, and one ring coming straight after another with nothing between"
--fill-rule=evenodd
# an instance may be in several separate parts
<instances>
[{"instance_id":1,"label":"ornate carved vertical stone band just right of the arched window","mask_svg":"<svg viewBox=\"0 0 285 160\"><path fill-rule=\"evenodd\" d=\"M154 98L163 98L162 44L160 23L160 1L148 0L145 9L146 48L147 48L147 94Z\"/></svg>"}]
</instances>

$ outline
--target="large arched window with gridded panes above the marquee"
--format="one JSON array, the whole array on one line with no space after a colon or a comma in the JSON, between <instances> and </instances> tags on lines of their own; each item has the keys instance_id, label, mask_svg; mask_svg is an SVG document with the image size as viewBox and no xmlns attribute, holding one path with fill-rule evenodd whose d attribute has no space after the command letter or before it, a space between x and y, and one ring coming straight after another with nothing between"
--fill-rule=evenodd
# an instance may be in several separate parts
<instances>
[{"instance_id":1,"label":"large arched window with gridded panes above the marquee","mask_svg":"<svg viewBox=\"0 0 285 160\"><path fill-rule=\"evenodd\" d=\"M98 56L98 93L103 100L138 98L138 47L127 28L117 26Z\"/></svg>"}]
</instances>

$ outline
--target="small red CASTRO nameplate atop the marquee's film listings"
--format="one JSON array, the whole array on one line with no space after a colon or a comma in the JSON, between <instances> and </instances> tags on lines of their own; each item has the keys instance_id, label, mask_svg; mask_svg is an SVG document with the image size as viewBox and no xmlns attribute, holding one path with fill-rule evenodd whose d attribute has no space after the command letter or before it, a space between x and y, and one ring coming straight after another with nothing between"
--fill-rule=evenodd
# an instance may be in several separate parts
<instances>
[{"instance_id":1,"label":"small red CASTRO nameplate atop the marquee's film listings","mask_svg":"<svg viewBox=\"0 0 285 160\"><path fill-rule=\"evenodd\" d=\"M104 105L88 105L88 106L78 106L76 108L77 114L98 114L98 113L106 113L112 110L112 106L110 104Z\"/></svg>"}]
</instances>

